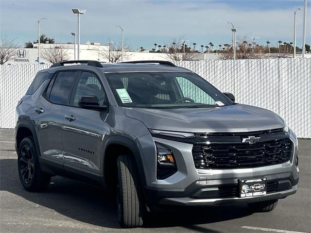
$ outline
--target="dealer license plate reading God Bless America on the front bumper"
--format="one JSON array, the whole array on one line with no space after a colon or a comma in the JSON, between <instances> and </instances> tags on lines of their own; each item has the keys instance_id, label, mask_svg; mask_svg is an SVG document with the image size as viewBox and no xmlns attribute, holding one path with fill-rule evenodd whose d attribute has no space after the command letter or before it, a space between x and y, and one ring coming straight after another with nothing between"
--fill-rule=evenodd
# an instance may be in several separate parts
<instances>
[{"instance_id":1,"label":"dealer license plate reading God Bless America on the front bumper","mask_svg":"<svg viewBox=\"0 0 311 233\"><path fill-rule=\"evenodd\" d=\"M239 180L239 197L257 197L267 194L266 178Z\"/></svg>"}]
</instances>

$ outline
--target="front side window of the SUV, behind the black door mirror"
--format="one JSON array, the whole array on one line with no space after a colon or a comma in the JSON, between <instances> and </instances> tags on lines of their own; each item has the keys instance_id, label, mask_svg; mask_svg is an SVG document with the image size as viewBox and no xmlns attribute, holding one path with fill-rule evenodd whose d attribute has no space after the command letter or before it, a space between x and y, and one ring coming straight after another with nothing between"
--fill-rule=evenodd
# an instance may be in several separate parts
<instances>
[{"instance_id":1,"label":"front side window of the SUV, behind the black door mirror","mask_svg":"<svg viewBox=\"0 0 311 233\"><path fill-rule=\"evenodd\" d=\"M103 86L98 77L91 72L82 72L73 100L74 106L79 106L78 102L82 96L96 96L100 104L104 104L105 93Z\"/></svg>"}]
</instances>

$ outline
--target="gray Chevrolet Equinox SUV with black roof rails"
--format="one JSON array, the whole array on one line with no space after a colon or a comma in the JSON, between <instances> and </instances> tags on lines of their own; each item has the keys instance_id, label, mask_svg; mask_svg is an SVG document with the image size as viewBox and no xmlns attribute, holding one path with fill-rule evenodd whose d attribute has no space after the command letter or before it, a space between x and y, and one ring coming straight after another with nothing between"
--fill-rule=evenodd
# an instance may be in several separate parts
<instances>
[{"instance_id":1,"label":"gray Chevrolet Equinox SUV with black roof rails","mask_svg":"<svg viewBox=\"0 0 311 233\"><path fill-rule=\"evenodd\" d=\"M170 62L56 63L16 113L24 188L55 175L102 187L122 227L168 206L267 212L297 190L297 138L284 120Z\"/></svg>"}]
</instances>

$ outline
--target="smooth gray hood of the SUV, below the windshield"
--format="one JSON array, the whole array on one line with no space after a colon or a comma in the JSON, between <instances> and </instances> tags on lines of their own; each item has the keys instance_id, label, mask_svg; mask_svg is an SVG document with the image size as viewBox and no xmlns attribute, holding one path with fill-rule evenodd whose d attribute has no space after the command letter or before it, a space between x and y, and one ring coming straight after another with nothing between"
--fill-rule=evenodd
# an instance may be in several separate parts
<instances>
[{"instance_id":1,"label":"smooth gray hood of the SUV, below the windshield","mask_svg":"<svg viewBox=\"0 0 311 233\"><path fill-rule=\"evenodd\" d=\"M126 108L125 115L142 121L149 129L179 132L252 132L285 127L275 113L244 104L194 109Z\"/></svg>"}]
</instances>

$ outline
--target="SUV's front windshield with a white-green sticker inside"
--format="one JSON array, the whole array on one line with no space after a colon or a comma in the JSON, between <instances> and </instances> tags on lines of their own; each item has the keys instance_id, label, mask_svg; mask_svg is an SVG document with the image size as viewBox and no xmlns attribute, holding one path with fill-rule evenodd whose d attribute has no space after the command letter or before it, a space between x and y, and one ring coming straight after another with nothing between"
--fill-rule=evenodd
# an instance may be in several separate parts
<instances>
[{"instance_id":1,"label":"SUV's front windshield with a white-green sticker inside","mask_svg":"<svg viewBox=\"0 0 311 233\"><path fill-rule=\"evenodd\" d=\"M191 72L120 72L105 76L118 104L124 107L202 108L233 104Z\"/></svg>"}]
</instances>

